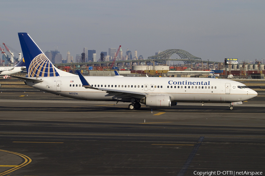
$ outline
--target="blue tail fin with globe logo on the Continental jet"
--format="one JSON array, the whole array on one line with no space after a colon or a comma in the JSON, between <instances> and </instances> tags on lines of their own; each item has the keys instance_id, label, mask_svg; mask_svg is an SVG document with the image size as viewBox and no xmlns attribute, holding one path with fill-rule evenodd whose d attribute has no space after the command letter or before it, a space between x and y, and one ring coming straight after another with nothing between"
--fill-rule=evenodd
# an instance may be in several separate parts
<instances>
[{"instance_id":1,"label":"blue tail fin with globe logo on the Continental jet","mask_svg":"<svg viewBox=\"0 0 265 176\"><path fill-rule=\"evenodd\" d=\"M44 55L28 33L18 33L29 77L59 76L52 62Z\"/></svg>"}]
</instances>

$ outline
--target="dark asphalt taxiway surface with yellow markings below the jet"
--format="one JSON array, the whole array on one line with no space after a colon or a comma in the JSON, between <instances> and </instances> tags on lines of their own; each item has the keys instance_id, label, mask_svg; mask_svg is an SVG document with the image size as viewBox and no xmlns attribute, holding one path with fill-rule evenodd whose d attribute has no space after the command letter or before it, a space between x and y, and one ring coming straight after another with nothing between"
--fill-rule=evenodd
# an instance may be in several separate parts
<instances>
[{"instance_id":1,"label":"dark asphalt taxiway surface with yellow markings below the jet","mask_svg":"<svg viewBox=\"0 0 265 176\"><path fill-rule=\"evenodd\" d=\"M233 110L179 103L135 111L31 88L1 92L0 176L265 172L263 91Z\"/></svg>"}]
</instances>

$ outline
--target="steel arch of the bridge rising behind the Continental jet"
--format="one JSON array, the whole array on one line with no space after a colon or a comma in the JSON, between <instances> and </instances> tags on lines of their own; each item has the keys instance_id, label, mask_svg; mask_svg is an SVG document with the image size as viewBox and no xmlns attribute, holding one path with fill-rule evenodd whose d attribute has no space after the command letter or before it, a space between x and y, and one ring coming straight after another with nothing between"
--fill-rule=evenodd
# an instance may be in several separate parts
<instances>
[{"instance_id":1,"label":"steel arch of the bridge rising behind the Continental jet","mask_svg":"<svg viewBox=\"0 0 265 176\"><path fill-rule=\"evenodd\" d=\"M148 59L154 60L159 63L166 63L167 60L170 58L170 56L173 55L174 53L179 55L181 57L181 60L183 60L185 64L194 63L194 62L202 62L200 57L195 57L191 55L191 53L188 53L185 50L177 50L177 49L165 50L159 53L158 55L148 57Z\"/></svg>"}]
</instances>

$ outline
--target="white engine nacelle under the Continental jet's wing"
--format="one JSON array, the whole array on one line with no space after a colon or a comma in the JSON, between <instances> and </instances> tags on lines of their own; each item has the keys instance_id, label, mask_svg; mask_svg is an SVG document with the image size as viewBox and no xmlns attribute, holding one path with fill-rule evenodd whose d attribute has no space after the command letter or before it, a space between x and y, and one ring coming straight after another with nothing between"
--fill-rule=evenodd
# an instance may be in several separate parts
<instances>
[{"instance_id":1,"label":"white engine nacelle under the Continental jet's wing","mask_svg":"<svg viewBox=\"0 0 265 176\"><path fill-rule=\"evenodd\" d=\"M170 107L171 97L168 95L151 95L142 98L140 103L149 107Z\"/></svg>"}]
</instances>

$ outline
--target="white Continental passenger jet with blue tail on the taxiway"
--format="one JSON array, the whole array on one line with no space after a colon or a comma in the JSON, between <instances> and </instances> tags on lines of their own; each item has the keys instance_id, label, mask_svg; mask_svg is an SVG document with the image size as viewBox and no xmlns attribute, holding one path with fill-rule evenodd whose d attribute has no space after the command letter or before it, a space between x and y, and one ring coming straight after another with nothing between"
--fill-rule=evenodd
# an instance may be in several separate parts
<instances>
[{"instance_id":1,"label":"white Continental passenger jet with blue tail on the taxiway","mask_svg":"<svg viewBox=\"0 0 265 176\"><path fill-rule=\"evenodd\" d=\"M176 102L242 104L257 96L246 85L227 79L177 77L83 77L54 67L27 33L18 33L28 71L25 84L64 97L97 101L131 102L130 110L141 104L170 107Z\"/></svg>"}]
</instances>

